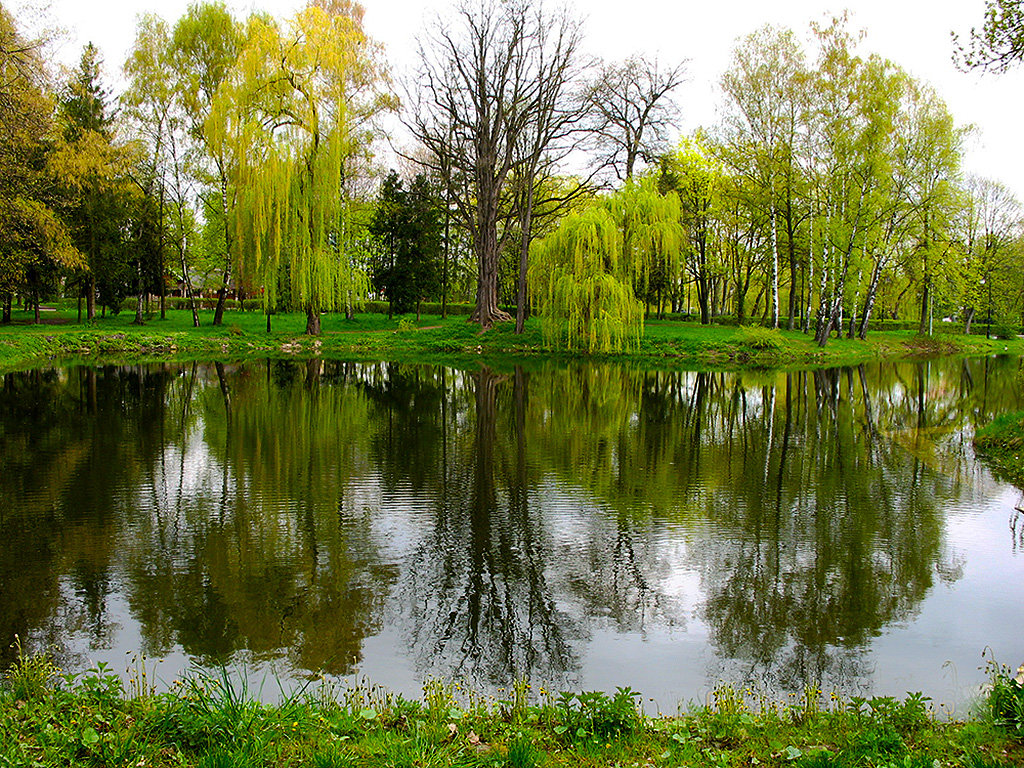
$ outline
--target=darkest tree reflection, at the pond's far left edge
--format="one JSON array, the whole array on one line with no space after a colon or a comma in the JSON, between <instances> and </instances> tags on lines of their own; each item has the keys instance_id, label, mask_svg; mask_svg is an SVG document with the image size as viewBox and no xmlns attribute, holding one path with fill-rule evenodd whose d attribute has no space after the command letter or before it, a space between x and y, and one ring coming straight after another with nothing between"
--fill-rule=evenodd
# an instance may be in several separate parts
<instances>
[{"instance_id":1,"label":"darkest tree reflection, at the pond's far left edge","mask_svg":"<svg viewBox=\"0 0 1024 768\"><path fill-rule=\"evenodd\" d=\"M0 668L15 633L58 654L70 633L110 641L119 528L133 511L122 488L159 453L171 378L160 367L4 375Z\"/></svg>"}]
</instances>

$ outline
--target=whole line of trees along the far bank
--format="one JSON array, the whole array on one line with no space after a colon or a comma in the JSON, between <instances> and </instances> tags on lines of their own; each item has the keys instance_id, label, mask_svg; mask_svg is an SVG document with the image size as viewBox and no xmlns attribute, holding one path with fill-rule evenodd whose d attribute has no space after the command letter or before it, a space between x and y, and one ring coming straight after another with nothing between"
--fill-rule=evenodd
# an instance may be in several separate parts
<instances>
[{"instance_id":1,"label":"whole line of trees along the far bank","mask_svg":"<svg viewBox=\"0 0 1024 768\"><path fill-rule=\"evenodd\" d=\"M956 41L964 67L1020 57L1004 6ZM3 319L15 297L38 318L78 296L87 319L134 297L141 324L175 293L197 326L198 297L219 325L233 295L312 334L368 299L472 301L483 328L514 307L518 332L534 313L592 349L666 313L822 345L872 319L1021 325L1018 202L964 174L969 129L861 37L752 33L718 123L673 142L685 61L593 60L578 17L529 0L463 0L404 80L350 0L287 19L204 0L138 19L116 98L95 47L55 76L0 5Z\"/></svg>"}]
</instances>

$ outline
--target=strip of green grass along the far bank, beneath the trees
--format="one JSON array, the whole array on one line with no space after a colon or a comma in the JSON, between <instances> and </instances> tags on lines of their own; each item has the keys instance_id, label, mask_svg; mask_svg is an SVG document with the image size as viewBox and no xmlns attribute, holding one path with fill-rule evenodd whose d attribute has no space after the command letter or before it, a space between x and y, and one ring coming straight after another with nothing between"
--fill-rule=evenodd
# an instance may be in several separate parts
<instances>
[{"instance_id":1,"label":"strip of green grass along the far bank, beneath the trees","mask_svg":"<svg viewBox=\"0 0 1024 768\"><path fill-rule=\"evenodd\" d=\"M167 319L131 325L132 314L75 322L70 310L44 312L44 325L15 324L0 327L0 371L32 368L48 362L105 362L134 360L241 359L249 356L310 356L349 359L413 359L466 364L481 357L573 357L578 354L551 348L537 322L516 335L511 324L486 333L465 317L437 315L395 317L364 313L353 319L325 315L324 333L308 337L304 315L281 314L266 318L256 312L229 311L224 325L210 325L212 312L202 312L202 327L190 327L184 310L168 312ZM872 359L898 359L937 354L983 355L1024 352L1020 339L988 340L952 334L922 338L910 332L874 332L866 341L833 339L821 349L799 332L766 329L701 327L675 321L647 324L637 349L624 354L591 355L601 359L634 361L651 367L817 367L852 365Z\"/></svg>"}]
</instances>

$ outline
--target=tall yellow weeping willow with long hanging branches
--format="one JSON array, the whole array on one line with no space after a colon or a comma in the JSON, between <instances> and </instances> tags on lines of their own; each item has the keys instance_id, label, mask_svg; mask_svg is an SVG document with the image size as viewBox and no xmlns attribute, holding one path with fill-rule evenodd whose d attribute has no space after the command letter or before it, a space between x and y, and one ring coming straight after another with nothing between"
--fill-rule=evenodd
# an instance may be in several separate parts
<instances>
[{"instance_id":1,"label":"tall yellow weeping willow with long hanging branches","mask_svg":"<svg viewBox=\"0 0 1024 768\"><path fill-rule=\"evenodd\" d=\"M346 180L373 117L393 99L380 89L361 15L353 3L321 0L284 29L254 17L212 117L243 158L234 254L243 278L262 286L267 311L286 283L312 335L322 312L350 311L369 290L346 247Z\"/></svg>"}]
</instances>

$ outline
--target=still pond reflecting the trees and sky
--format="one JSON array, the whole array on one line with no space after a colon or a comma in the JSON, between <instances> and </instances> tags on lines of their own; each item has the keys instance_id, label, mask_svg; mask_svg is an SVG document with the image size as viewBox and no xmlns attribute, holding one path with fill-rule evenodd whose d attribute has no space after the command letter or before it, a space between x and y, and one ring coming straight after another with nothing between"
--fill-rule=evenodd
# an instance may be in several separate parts
<instances>
[{"instance_id":1,"label":"still pond reflecting the trees and sky","mask_svg":"<svg viewBox=\"0 0 1024 768\"><path fill-rule=\"evenodd\" d=\"M983 650L1024 662L1022 495L971 443L1021 382L994 357L8 374L0 666L16 633L265 698L323 675L962 709Z\"/></svg>"}]
</instances>

